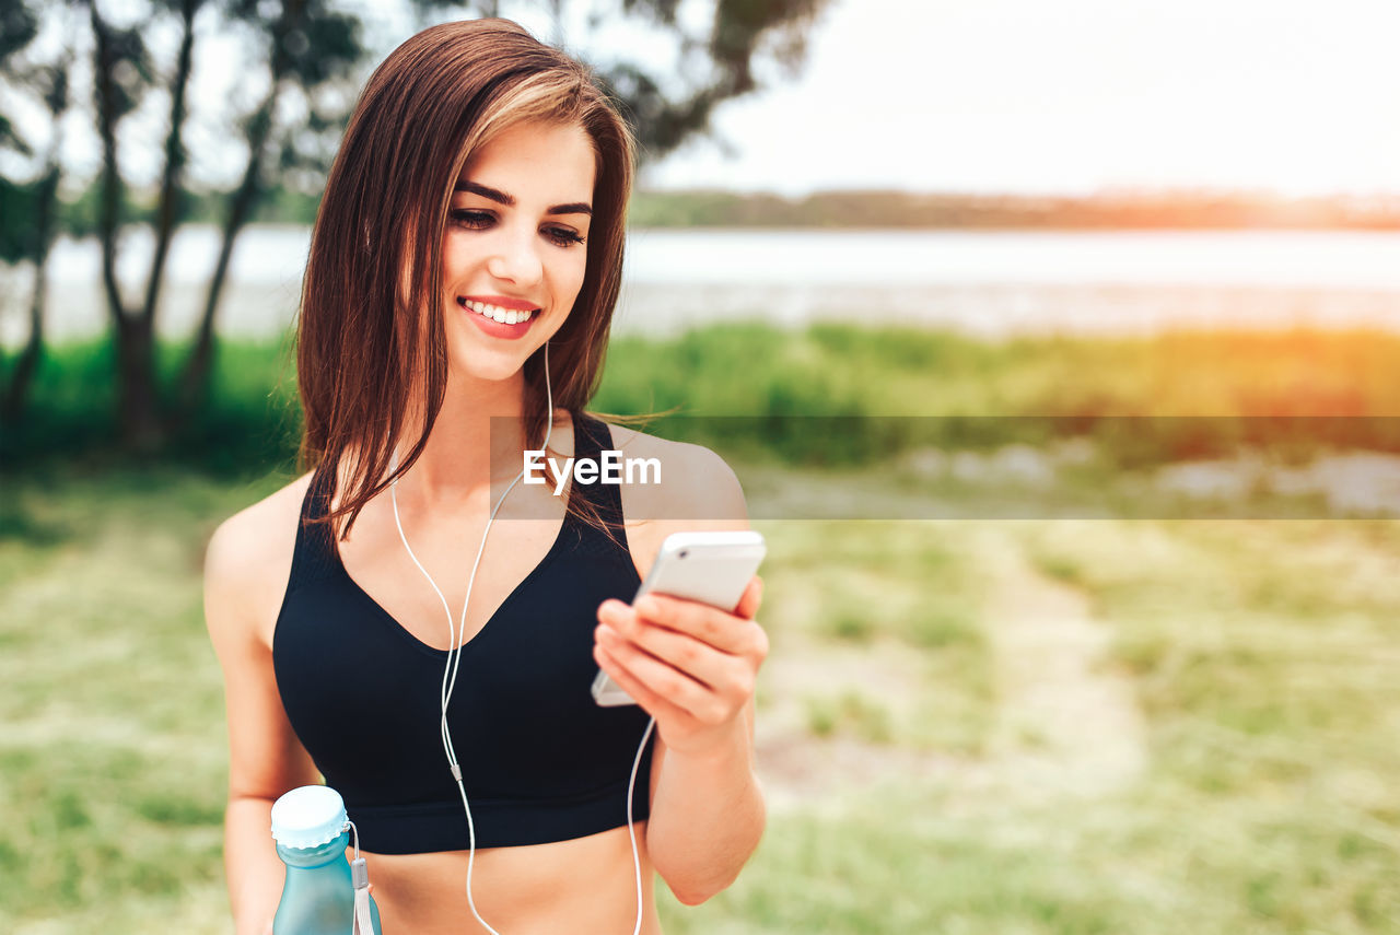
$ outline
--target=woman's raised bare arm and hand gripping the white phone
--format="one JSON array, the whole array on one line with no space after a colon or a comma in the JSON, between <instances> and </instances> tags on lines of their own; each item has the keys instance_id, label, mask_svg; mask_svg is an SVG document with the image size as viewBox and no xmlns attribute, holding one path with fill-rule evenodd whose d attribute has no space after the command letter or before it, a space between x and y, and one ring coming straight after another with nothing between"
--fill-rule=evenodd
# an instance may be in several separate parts
<instances>
[{"instance_id":1,"label":"woman's raised bare arm and hand gripping the white phone","mask_svg":"<svg viewBox=\"0 0 1400 935\"><path fill-rule=\"evenodd\" d=\"M664 465L669 490L658 495L685 502L631 498L661 518L638 536L643 549L668 532L749 528L739 481L717 455L676 445ZM599 665L657 718L647 850L676 899L692 906L729 886L763 836L753 764L755 680L767 655L755 621L762 593L755 578L732 614L661 595L599 607Z\"/></svg>"}]
</instances>

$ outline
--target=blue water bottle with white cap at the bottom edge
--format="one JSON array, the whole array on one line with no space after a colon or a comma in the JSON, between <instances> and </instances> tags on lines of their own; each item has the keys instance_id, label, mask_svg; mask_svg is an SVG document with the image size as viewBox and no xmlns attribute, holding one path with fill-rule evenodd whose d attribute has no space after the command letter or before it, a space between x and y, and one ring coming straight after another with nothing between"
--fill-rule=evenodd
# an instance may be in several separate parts
<instances>
[{"instance_id":1,"label":"blue water bottle with white cap at the bottom edge","mask_svg":"<svg viewBox=\"0 0 1400 935\"><path fill-rule=\"evenodd\" d=\"M287 792L272 806L272 836L287 865L273 935L382 935L358 840L353 872L346 861L350 823L339 792L325 785Z\"/></svg>"}]
</instances>

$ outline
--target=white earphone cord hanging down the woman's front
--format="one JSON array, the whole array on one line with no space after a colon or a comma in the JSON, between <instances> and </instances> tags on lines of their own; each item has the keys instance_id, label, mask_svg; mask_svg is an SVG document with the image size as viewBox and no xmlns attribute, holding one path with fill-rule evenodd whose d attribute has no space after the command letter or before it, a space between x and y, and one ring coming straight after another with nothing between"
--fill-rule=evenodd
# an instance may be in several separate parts
<instances>
[{"instance_id":1,"label":"white earphone cord hanging down the woman's front","mask_svg":"<svg viewBox=\"0 0 1400 935\"><path fill-rule=\"evenodd\" d=\"M545 396L546 396L545 412L547 413L547 420L545 423L543 448L547 449L549 437L554 430L554 393L553 389L550 388L550 381L549 381L549 342L545 342ZM389 462L389 473L393 473L398 469L398 466L399 466L399 452L398 448L395 448L392 459ZM442 701L442 711L441 711L442 750L447 753L448 768L451 768L452 771L452 778L456 780L456 789L462 795L462 809L466 812L468 843L470 845L470 850L468 851L466 857L466 903L468 906L472 907L472 915L476 917L476 921L480 922L486 928L486 931L491 932L491 935L500 935L500 932L491 928L491 925L484 918L482 918L482 914L476 911L476 900L472 899L472 868L476 862L476 826L472 822L472 806L466 801L466 787L462 784L462 767L458 763L456 750L452 747L452 732L448 729L447 725L447 705L448 701L452 700L452 689L456 686L456 670L462 662L461 642L462 637L466 634L466 607L472 602L472 585L476 582L476 568L477 565L482 564L482 553L486 551L486 536L491 530L491 522L496 519L496 514L500 511L501 504L505 502L505 497L511 493L511 490L514 490L515 484L519 483L521 477L524 476L525 476L525 469L522 468L521 473L515 474L515 480L510 483L510 486L501 494L500 500L496 501L496 507L491 509L491 515L486 521L486 529L482 532L482 544L476 550L476 561L472 563L472 574L466 579L466 599L462 602L462 616L459 624L461 630L458 628L458 624L452 623L452 610L451 607L448 607L447 598L442 596L442 589L437 586L437 582L433 581L433 575L428 574L427 568L423 567L423 563L420 563L417 556L413 554L413 549L409 547L409 537L403 533L403 522L399 519L399 498L396 494L399 479L395 477L389 483L389 500L393 504L393 523L399 528L399 539L403 540L403 549L409 553L409 558L413 560L413 564L419 567L419 571L423 572L423 577L428 579L428 584L433 585L433 591L442 602L442 610L447 612L449 648L447 656L447 666L442 669L442 690L440 694ZM641 743L637 746L637 756L631 763L631 778L627 781L627 834L631 838L631 859L637 876L637 925L631 929L633 935L640 935L641 932L643 903L641 903L641 857L637 852L637 831L633 827L633 820L631 820L631 802L633 802L633 792L637 785L637 770L641 766L641 754L647 749L647 740L651 738L651 731L655 726L657 726L657 719L651 718L647 722L647 729L641 735Z\"/></svg>"}]
</instances>

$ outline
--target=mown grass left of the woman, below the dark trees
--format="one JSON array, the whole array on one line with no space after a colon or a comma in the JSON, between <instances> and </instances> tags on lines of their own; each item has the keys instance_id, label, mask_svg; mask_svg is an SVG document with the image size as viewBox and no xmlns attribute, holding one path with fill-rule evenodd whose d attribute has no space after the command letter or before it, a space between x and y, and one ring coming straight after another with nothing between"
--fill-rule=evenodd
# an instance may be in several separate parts
<instances>
[{"instance_id":1,"label":"mown grass left of the woman, below the dark trees","mask_svg":"<svg viewBox=\"0 0 1400 935\"><path fill-rule=\"evenodd\" d=\"M11 922L174 911L221 885L200 563L255 491L181 472L7 484L45 535L0 536L0 904Z\"/></svg>"}]
</instances>

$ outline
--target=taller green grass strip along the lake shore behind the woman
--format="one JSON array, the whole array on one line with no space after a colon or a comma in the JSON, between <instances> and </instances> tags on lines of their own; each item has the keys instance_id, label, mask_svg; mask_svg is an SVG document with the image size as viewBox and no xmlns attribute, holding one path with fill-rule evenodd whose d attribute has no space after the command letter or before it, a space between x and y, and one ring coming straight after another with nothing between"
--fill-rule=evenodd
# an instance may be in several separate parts
<instances>
[{"instance_id":1,"label":"taller green grass strip along the lake shore behind the woman","mask_svg":"<svg viewBox=\"0 0 1400 935\"><path fill-rule=\"evenodd\" d=\"M298 431L290 347L290 336L223 342L213 402L172 438L167 459L245 476L290 463ZM164 386L181 358L181 347L162 349ZM1366 329L994 342L917 328L741 322L613 340L594 407L679 407L655 423L658 434L745 461L822 468L1077 435L1119 465L1266 444L1303 458L1319 447L1400 451L1400 420L1385 419L1400 414L1397 368L1400 336ZM52 349L28 417L0 434L0 458L109 462L111 374L104 340Z\"/></svg>"}]
</instances>

